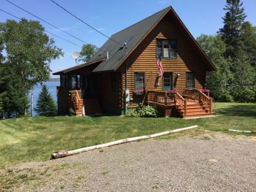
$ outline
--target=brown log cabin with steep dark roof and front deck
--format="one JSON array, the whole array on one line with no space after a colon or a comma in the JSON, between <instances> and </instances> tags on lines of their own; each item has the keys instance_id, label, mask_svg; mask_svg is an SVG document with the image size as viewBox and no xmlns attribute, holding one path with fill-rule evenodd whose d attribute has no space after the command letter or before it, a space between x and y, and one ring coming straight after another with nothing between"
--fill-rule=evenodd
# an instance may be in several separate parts
<instances>
[{"instance_id":1,"label":"brown log cabin with steep dark roof and front deck","mask_svg":"<svg viewBox=\"0 0 256 192\"><path fill-rule=\"evenodd\" d=\"M211 116L212 99L202 88L206 72L214 69L173 8L167 7L113 34L86 64L54 73L61 80L59 115L70 108L76 115L121 115L150 104L165 117Z\"/></svg>"}]
</instances>

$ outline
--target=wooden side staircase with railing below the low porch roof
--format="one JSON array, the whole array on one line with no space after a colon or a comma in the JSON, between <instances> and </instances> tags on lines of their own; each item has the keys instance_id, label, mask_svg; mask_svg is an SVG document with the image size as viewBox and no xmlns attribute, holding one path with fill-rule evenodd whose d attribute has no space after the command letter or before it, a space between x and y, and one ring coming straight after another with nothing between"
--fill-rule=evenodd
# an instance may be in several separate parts
<instances>
[{"instance_id":1,"label":"wooden side staircase with railing below the low porch roof","mask_svg":"<svg viewBox=\"0 0 256 192\"><path fill-rule=\"evenodd\" d=\"M75 110L75 115L83 115L83 106L85 110L85 115L102 113L101 107L99 105L99 100L97 98L82 99L82 93L80 90L69 91L69 96L72 107Z\"/></svg>"}]
</instances>

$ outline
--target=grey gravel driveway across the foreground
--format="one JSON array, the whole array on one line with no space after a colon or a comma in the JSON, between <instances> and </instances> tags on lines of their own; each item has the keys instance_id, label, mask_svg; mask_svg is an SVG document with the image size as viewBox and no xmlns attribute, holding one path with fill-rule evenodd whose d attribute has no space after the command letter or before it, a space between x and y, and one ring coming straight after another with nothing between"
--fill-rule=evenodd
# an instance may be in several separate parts
<instances>
[{"instance_id":1,"label":"grey gravel driveway across the foreground","mask_svg":"<svg viewBox=\"0 0 256 192\"><path fill-rule=\"evenodd\" d=\"M256 138L149 139L14 170L28 178L15 191L256 191Z\"/></svg>"}]
</instances>

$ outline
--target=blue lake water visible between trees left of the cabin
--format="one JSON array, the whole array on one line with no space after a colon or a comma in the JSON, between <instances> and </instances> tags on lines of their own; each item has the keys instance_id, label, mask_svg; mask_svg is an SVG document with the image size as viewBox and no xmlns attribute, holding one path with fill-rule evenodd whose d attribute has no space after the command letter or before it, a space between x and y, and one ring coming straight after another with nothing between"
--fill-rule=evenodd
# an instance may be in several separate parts
<instances>
[{"instance_id":1,"label":"blue lake water visible between trees left of the cabin","mask_svg":"<svg viewBox=\"0 0 256 192\"><path fill-rule=\"evenodd\" d=\"M47 86L49 93L53 96L53 99L54 99L54 101L57 104L56 86L59 86L60 82L45 82L45 85ZM39 93L41 92L41 90L42 90L42 86L41 85L37 85L34 88L34 91L33 91L33 94L34 94L34 107L37 106L37 99L38 99L38 96L39 96ZM31 97L31 94L29 94L29 97ZM35 112L33 110L33 116L36 116L36 115L37 115L37 112Z\"/></svg>"}]
</instances>

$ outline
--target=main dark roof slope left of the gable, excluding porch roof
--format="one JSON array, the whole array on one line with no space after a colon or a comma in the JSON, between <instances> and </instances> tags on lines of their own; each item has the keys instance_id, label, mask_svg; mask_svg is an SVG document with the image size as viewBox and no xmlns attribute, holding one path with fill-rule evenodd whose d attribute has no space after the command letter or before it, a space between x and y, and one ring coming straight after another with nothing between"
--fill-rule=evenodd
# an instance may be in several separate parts
<instances>
[{"instance_id":1,"label":"main dark roof slope left of the gable, excluding porch roof","mask_svg":"<svg viewBox=\"0 0 256 192\"><path fill-rule=\"evenodd\" d=\"M118 45L116 42L108 39L108 41L105 42L105 44L100 48L100 50L105 50L105 48L107 48L105 53L100 55L101 51L99 51L98 53L94 54L89 62L106 56L107 51L109 53L109 59L102 61L102 63L99 64L99 66L97 66L93 72L116 70L118 66L124 62L126 55L134 50L136 45L138 45L143 37L146 36L148 31L151 31L151 28L153 28L154 25L162 19L162 17L169 9L170 7L162 9L162 11L159 11L154 15L149 16L148 18L140 20L140 22L135 23L128 28L124 28L116 34L113 34L111 39L121 43L121 45ZM127 45L124 48L121 48L125 42L127 42Z\"/></svg>"}]
</instances>

